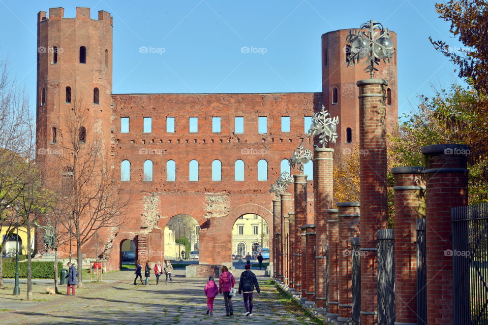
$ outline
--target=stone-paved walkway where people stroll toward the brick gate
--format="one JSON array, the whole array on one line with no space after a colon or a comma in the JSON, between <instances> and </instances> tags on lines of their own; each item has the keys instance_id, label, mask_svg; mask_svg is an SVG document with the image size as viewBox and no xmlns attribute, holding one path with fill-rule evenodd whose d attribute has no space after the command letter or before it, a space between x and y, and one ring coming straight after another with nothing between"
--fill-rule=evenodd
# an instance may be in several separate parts
<instances>
[{"instance_id":1,"label":"stone-paved walkway where people stroll toward the brick gate","mask_svg":"<svg viewBox=\"0 0 488 325\"><path fill-rule=\"evenodd\" d=\"M236 279L240 270L235 271ZM206 312L203 287L206 279L184 277L183 270L174 271L174 283L155 285L154 274L150 285L136 285L130 271L109 273L112 283L89 283L72 296L35 294L37 303L16 301L0 296L0 324L315 324L301 309L284 299L264 271L254 271L262 284L261 294L255 294L252 317L244 317L242 296L234 300L234 315L225 316L222 296L215 301L214 316ZM237 284L236 284L237 285ZM22 287L21 287L22 289ZM63 287L64 289L64 287ZM24 294L24 293L22 293ZM52 300L39 299L49 297ZM12 297L12 296L10 296ZM10 300L12 301L12 300ZM8 310L4 310L8 309Z\"/></svg>"}]
</instances>

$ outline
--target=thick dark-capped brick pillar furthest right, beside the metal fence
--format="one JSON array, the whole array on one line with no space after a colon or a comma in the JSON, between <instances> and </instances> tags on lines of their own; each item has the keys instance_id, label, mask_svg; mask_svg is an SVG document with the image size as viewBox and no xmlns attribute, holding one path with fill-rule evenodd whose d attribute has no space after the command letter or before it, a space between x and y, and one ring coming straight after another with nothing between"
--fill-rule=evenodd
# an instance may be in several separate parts
<instances>
[{"instance_id":1,"label":"thick dark-capped brick pillar furthest right, beside the metal fence","mask_svg":"<svg viewBox=\"0 0 488 325\"><path fill-rule=\"evenodd\" d=\"M427 158L425 236L427 245L427 322L454 324L451 208L468 204L469 147L443 144L422 148Z\"/></svg>"}]
</instances>

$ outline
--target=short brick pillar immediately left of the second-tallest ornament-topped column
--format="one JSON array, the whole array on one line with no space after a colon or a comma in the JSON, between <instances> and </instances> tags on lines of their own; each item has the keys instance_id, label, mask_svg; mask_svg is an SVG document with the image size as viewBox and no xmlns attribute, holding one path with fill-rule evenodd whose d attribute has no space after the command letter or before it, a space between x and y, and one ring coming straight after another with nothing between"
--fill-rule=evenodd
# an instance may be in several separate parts
<instances>
[{"instance_id":1,"label":"short brick pillar immediately left of the second-tallest ornament-topped column","mask_svg":"<svg viewBox=\"0 0 488 325\"><path fill-rule=\"evenodd\" d=\"M305 298L308 307L315 307L315 224L307 224L305 233Z\"/></svg>"}]
</instances>

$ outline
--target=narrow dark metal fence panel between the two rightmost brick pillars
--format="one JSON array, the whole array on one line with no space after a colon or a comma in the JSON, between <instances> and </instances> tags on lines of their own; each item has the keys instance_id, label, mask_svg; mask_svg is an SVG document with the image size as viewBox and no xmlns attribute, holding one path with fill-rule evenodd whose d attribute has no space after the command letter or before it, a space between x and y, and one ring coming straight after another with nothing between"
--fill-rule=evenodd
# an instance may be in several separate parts
<instances>
[{"instance_id":1,"label":"narrow dark metal fence panel between the two rightmost brick pillars","mask_svg":"<svg viewBox=\"0 0 488 325\"><path fill-rule=\"evenodd\" d=\"M425 219L417 219L417 324L427 325L427 247Z\"/></svg>"}]
</instances>

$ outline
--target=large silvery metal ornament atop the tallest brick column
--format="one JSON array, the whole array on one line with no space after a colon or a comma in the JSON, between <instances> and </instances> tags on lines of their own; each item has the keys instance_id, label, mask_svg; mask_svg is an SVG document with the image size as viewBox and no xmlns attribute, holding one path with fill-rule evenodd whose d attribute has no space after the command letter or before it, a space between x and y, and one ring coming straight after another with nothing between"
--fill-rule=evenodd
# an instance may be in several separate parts
<instances>
[{"instance_id":1,"label":"large silvery metal ornament atop the tallest brick column","mask_svg":"<svg viewBox=\"0 0 488 325\"><path fill-rule=\"evenodd\" d=\"M383 62L390 62L395 50L391 42L390 31L377 21L370 20L358 29L351 29L346 38L348 43L347 66L354 66L359 60L366 58L363 64L368 64L364 72L369 72L371 79L378 71L375 66Z\"/></svg>"}]
</instances>

